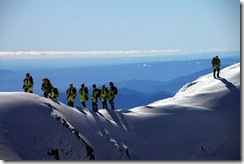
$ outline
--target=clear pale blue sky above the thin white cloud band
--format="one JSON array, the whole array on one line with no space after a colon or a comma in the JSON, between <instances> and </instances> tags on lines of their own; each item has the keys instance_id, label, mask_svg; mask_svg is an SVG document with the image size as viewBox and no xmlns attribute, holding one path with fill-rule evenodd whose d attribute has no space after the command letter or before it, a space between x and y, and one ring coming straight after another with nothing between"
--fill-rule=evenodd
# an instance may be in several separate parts
<instances>
[{"instance_id":1,"label":"clear pale blue sky above the thin white cloud band","mask_svg":"<svg viewBox=\"0 0 244 164\"><path fill-rule=\"evenodd\" d=\"M239 0L0 0L0 51L240 49Z\"/></svg>"}]
</instances>

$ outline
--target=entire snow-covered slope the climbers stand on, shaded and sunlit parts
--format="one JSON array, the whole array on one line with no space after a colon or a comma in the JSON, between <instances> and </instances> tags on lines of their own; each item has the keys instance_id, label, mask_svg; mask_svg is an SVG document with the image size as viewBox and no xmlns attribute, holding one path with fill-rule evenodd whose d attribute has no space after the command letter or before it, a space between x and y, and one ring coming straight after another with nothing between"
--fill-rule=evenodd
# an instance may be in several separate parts
<instances>
[{"instance_id":1,"label":"entire snow-covered slope the climbers stand on, shaded and sunlit parts","mask_svg":"<svg viewBox=\"0 0 244 164\"><path fill-rule=\"evenodd\" d=\"M148 106L98 113L1 92L0 159L54 160L56 150L60 160L240 160L240 64L221 76Z\"/></svg>"}]
</instances>

